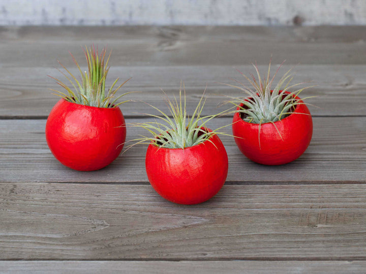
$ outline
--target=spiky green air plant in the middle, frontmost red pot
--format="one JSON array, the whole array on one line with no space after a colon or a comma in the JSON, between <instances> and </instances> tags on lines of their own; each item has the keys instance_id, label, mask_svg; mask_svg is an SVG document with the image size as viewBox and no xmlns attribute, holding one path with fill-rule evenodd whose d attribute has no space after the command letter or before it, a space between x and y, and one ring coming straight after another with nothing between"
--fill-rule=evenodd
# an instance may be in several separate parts
<instances>
[{"instance_id":1,"label":"spiky green air plant in the middle, frontmost red pot","mask_svg":"<svg viewBox=\"0 0 366 274\"><path fill-rule=\"evenodd\" d=\"M183 95L182 95L182 87L184 93ZM146 129L151 133L151 136L140 135L141 138L130 141L136 143L130 145L129 147L132 147L137 144L152 143L161 148L184 149L187 147L193 147L195 145L201 144L206 140L208 142L211 142L209 138L215 134L228 135L224 132L218 132L218 130L222 129L227 125L212 131L207 129L206 123L211 119L223 114L224 112L201 117L201 113L206 101L204 93L205 91L203 92L198 102L198 105L191 117L187 114L186 89L182 81L180 82L180 88L179 88L179 100L177 100L175 96L173 100L170 100L167 96L165 98L172 118L170 118L169 115L167 115L160 109L146 103L150 107L157 110L161 114L161 116L147 113L145 113L145 115L159 119L158 121L161 122L158 122L156 120L154 122L131 124L132 126L138 126Z\"/></svg>"}]
</instances>

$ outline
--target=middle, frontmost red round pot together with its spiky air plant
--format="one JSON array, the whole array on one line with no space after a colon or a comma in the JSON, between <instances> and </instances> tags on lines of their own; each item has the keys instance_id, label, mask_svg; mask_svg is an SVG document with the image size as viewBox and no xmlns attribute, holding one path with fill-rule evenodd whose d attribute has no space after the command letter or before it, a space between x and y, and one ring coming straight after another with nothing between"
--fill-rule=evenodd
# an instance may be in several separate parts
<instances>
[{"instance_id":1,"label":"middle, frontmost red round pot together with its spiky air plant","mask_svg":"<svg viewBox=\"0 0 366 274\"><path fill-rule=\"evenodd\" d=\"M226 181L228 156L215 129L206 123L219 114L201 117L203 95L189 117L186 96L179 100L166 99L172 117L153 107L161 116L146 114L155 122L133 124L151 133L136 144L148 144L145 158L147 178L153 188L165 199L179 204L197 204L215 196Z\"/></svg>"}]
</instances>

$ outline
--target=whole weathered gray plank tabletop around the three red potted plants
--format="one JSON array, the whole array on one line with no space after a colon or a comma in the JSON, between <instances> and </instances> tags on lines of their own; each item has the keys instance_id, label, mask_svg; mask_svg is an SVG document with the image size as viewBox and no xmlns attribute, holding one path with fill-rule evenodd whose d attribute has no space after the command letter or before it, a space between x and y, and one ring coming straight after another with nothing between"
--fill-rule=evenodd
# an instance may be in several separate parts
<instances>
[{"instance_id":1,"label":"whole weathered gray plank tabletop around the three red potted plants","mask_svg":"<svg viewBox=\"0 0 366 274\"><path fill-rule=\"evenodd\" d=\"M0 27L0 271L47 272L62 265L68 271L142 273L362 272L365 30ZM207 83L204 114L212 114L224 109L217 108L221 95L239 94L217 83L240 79L235 67L248 74L257 60L265 70L271 52L273 68L284 59L283 71L300 62L294 81L317 85L301 97L320 95L308 100L320 107L311 107L310 147L290 164L263 166L245 158L232 137L222 136L229 155L227 182L217 196L193 207L167 202L150 187L146 145L96 172L64 167L45 141L45 119L57 101L48 90L55 83L46 75L59 75L53 68L57 58L76 72L68 50L81 61L80 46L91 43L113 48L111 79L132 76L124 90L141 91L129 95L137 102L121 108L130 123L148 120L140 112L154 113L138 100L165 109L160 88L172 96L180 78L190 112ZM230 123L226 116L208 126ZM127 139L143 132L129 127Z\"/></svg>"}]
</instances>

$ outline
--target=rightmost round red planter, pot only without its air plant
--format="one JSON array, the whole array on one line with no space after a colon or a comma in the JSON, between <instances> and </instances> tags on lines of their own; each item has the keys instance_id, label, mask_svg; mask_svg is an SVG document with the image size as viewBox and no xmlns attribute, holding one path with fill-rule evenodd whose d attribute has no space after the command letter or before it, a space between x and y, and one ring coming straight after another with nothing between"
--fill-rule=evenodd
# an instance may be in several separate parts
<instances>
[{"instance_id":1,"label":"rightmost round red planter, pot only without its air plant","mask_svg":"<svg viewBox=\"0 0 366 274\"><path fill-rule=\"evenodd\" d=\"M261 164L285 164L300 157L313 135L313 120L308 107L297 105L292 114L275 125L261 124L258 139L259 124L243 121L236 112L232 124L235 143L245 156Z\"/></svg>"}]
</instances>

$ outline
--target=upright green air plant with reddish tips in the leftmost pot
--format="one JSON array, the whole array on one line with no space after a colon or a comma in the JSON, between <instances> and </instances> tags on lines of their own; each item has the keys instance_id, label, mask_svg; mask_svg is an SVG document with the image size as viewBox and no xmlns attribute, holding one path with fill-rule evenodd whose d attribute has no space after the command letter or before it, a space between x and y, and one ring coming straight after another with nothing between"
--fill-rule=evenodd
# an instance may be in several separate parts
<instances>
[{"instance_id":1,"label":"upright green air plant with reddish tips in the leftmost pot","mask_svg":"<svg viewBox=\"0 0 366 274\"><path fill-rule=\"evenodd\" d=\"M55 95L63 97L65 100L74 102L79 105L92 106L98 108L115 108L120 104L130 101L126 100L117 103L117 100L120 97L129 94L131 92L121 94L117 97L115 97L115 94L117 90L120 89L131 78L127 79L124 83L120 84L115 89L113 89L119 80L119 78L117 78L112 83L109 90L106 92L105 84L107 74L110 68L110 66L108 66L108 61L112 51L109 52L106 62L104 62L107 52L106 47L102 49L100 55L98 54L98 47L95 47L94 45L90 46L90 48L87 48L85 46L85 50L83 49L83 51L86 57L87 72L86 71L82 72L75 57L70 53L74 63L79 69L81 75L81 81L79 81L80 79L77 80L76 77L73 74L71 74L71 72L60 61L58 61L58 63L66 70L69 76L59 69L58 71L62 73L67 78L67 80L69 80L73 88L68 87L65 83L58 80L57 78L49 76L52 79L56 80L57 84L65 88L68 92L68 94L66 94L61 91L51 89L52 91L57 92L57 94Z\"/></svg>"}]
</instances>

